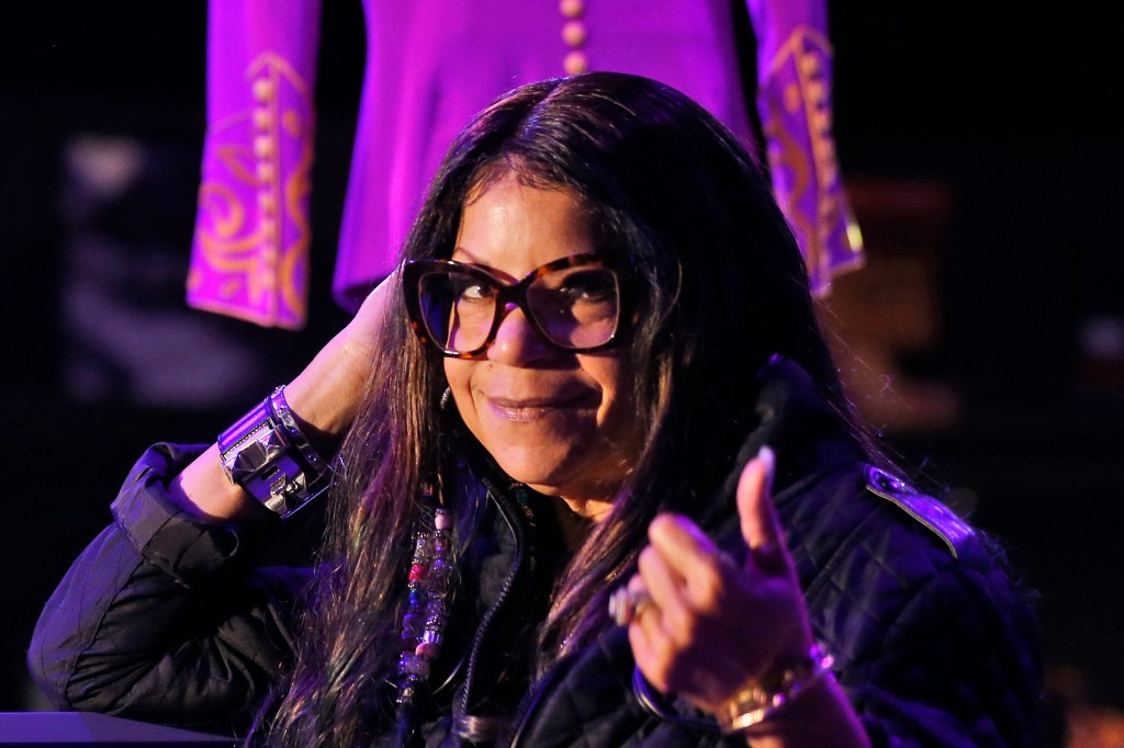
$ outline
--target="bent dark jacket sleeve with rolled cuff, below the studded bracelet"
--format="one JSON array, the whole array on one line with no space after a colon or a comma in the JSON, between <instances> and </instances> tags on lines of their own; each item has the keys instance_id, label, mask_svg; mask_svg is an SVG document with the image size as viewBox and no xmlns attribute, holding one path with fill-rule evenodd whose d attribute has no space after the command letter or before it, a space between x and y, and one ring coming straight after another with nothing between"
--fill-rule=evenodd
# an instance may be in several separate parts
<instances>
[{"instance_id":1,"label":"bent dark jacket sleeve with rolled cuff, below the studded bracelet","mask_svg":"<svg viewBox=\"0 0 1124 748\"><path fill-rule=\"evenodd\" d=\"M259 565L269 529L199 523L171 501L167 477L198 453L145 453L47 602L28 664L56 709L237 730L289 657L310 573Z\"/></svg>"}]
</instances>

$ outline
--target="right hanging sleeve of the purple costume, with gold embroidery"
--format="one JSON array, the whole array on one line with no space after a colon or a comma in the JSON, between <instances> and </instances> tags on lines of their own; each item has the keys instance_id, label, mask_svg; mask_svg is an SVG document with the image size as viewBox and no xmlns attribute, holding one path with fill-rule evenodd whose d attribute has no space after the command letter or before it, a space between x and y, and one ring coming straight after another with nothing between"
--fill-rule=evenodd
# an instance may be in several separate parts
<instances>
[{"instance_id":1,"label":"right hanging sleeve of the purple costume, with gold embroidery","mask_svg":"<svg viewBox=\"0 0 1124 748\"><path fill-rule=\"evenodd\" d=\"M758 113L777 202L812 291L863 263L832 135L832 46L824 0L747 0L758 40Z\"/></svg>"}]
</instances>

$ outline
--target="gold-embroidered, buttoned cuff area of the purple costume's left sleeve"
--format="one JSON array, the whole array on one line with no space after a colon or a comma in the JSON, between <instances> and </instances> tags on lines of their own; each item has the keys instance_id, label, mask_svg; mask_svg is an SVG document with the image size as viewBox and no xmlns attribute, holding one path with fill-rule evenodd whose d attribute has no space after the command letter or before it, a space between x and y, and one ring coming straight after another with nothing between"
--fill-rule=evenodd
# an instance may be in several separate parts
<instances>
[{"instance_id":1,"label":"gold-embroidered, buttoned cuff area of the purple costume's left sleeve","mask_svg":"<svg viewBox=\"0 0 1124 748\"><path fill-rule=\"evenodd\" d=\"M194 307L299 328L307 313L312 164L311 90L275 53L246 70L252 103L211 134L214 172L200 188L201 267Z\"/></svg>"}]
</instances>

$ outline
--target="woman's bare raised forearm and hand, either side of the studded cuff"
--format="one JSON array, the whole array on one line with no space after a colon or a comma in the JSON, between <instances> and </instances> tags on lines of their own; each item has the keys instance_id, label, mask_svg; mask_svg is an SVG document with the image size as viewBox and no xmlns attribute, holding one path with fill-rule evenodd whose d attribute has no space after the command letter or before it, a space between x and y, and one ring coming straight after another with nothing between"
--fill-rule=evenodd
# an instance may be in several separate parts
<instances>
[{"instance_id":1,"label":"woman's bare raised forearm and hand, either side of the studded cuff","mask_svg":"<svg viewBox=\"0 0 1124 748\"><path fill-rule=\"evenodd\" d=\"M355 317L285 386L285 401L306 436L325 453L334 450L351 427L366 386L374 341L386 317L398 273L391 273L363 301ZM262 393L264 399L268 392ZM188 465L171 486L188 511L212 521L269 517L269 510L227 477L218 445Z\"/></svg>"}]
</instances>

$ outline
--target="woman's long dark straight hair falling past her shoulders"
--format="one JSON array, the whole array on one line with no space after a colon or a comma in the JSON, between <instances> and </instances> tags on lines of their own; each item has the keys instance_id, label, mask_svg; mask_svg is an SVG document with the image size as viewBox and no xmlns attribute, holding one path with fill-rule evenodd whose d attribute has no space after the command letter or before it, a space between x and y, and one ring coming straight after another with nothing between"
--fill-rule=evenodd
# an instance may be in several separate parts
<instances>
[{"instance_id":1,"label":"woman's long dark straight hair falling past her shoulders","mask_svg":"<svg viewBox=\"0 0 1124 748\"><path fill-rule=\"evenodd\" d=\"M605 598L656 512L701 518L754 426L754 373L799 363L845 410L800 254L746 148L654 81L590 73L519 88L453 144L405 247L450 256L474 190L514 173L564 189L636 293L629 338L643 448L609 514L577 551L540 627L544 669L607 626ZM386 724L419 485L443 449L441 362L411 335L401 293L348 435L325 565L270 740L353 745Z\"/></svg>"}]
</instances>

